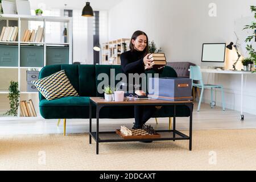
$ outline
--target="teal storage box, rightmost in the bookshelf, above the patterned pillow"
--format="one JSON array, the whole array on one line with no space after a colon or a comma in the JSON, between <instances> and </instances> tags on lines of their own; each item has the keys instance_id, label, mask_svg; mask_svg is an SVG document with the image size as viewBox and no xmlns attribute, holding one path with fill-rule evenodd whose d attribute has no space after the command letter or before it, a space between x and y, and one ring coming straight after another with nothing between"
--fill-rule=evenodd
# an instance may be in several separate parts
<instances>
[{"instance_id":1,"label":"teal storage box, rightmost in the bookshelf, above the patterned pillow","mask_svg":"<svg viewBox=\"0 0 256 182\"><path fill-rule=\"evenodd\" d=\"M69 47L46 47L46 65L69 64Z\"/></svg>"}]
</instances>

